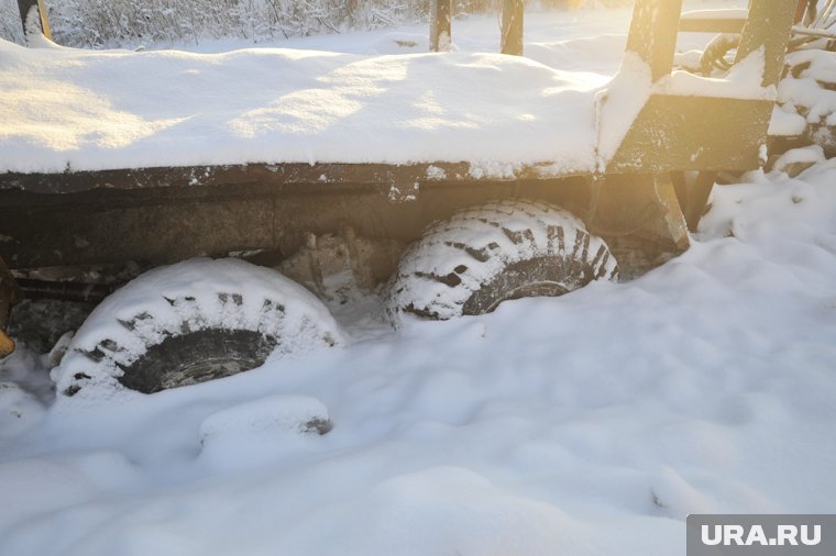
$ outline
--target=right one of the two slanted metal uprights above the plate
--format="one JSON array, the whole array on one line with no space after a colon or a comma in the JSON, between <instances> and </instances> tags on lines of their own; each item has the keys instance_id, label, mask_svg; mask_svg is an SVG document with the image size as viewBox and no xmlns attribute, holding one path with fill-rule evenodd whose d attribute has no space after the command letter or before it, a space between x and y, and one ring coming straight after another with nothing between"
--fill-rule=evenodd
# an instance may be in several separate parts
<instances>
[{"instance_id":1,"label":"right one of the two slanted metal uprights above the plate","mask_svg":"<svg viewBox=\"0 0 836 556\"><path fill-rule=\"evenodd\" d=\"M735 64L763 48L763 87L778 85L781 78L796 8L796 0L752 0L749 4Z\"/></svg>"}]
</instances>

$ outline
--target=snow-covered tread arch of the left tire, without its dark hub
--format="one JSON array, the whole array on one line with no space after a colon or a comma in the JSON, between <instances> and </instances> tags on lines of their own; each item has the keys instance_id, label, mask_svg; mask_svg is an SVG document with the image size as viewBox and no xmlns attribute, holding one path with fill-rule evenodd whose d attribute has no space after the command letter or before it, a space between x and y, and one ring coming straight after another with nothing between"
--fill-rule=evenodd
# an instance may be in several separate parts
<instances>
[{"instance_id":1,"label":"snow-covered tread arch of the left tire, without its dark hub","mask_svg":"<svg viewBox=\"0 0 836 556\"><path fill-rule=\"evenodd\" d=\"M198 258L151 270L102 301L52 378L66 396L121 396L118 378L151 346L209 329L277 338L267 360L344 343L328 309L304 287L243 260Z\"/></svg>"}]
</instances>

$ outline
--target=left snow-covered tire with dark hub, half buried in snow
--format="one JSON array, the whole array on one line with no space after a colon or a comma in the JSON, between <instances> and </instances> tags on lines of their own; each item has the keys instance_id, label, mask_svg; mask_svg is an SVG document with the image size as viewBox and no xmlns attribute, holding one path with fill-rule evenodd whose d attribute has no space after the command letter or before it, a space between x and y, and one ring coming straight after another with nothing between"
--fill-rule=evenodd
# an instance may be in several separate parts
<instances>
[{"instance_id":1,"label":"left snow-covered tire with dark hub, half buried in snow","mask_svg":"<svg viewBox=\"0 0 836 556\"><path fill-rule=\"evenodd\" d=\"M275 270L191 259L151 270L102 301L52 378L64 396L153 393L342 342L328 309Z\"/></svg>"}]
</instances>

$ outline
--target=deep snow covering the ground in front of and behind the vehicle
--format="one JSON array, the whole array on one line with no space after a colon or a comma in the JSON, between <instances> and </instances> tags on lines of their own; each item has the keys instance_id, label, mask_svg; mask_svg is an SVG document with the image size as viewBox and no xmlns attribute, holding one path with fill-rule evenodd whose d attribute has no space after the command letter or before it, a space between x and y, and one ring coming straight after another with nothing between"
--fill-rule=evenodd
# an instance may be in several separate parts
<instances>
[{"instance_id":1,"label":"deep snow covering the ground in front of and behind the vehicle","mask_svg":"<svg viewBox=\"0 0 836 556\"><path fill-rule=\"evenodd\" d=\"M548 18L530 55L615 71L627 11ZM495 22L457 24L494 49ZM358 299L342 347L213 382L56 402L20 349L0 555L667 556L689 513L836 512L836 162L743 181L630 282L397 332Z\"/></svg>"}]
</instances>

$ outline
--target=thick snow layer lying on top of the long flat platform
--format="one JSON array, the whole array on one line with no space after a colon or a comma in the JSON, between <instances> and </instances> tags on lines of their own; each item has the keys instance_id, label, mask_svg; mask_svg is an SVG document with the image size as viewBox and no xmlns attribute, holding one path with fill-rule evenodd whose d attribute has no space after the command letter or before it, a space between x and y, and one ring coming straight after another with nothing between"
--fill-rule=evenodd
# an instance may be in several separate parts
<instances>
[{"instance_id":1,"label":"thick snow layer lying on top of the long flat platform","mask_svg":"<svg viewBox=\"0 0 836 556\"><path fill-rule=\"evenodd\" d=\"M597 74L498 54L26 49L0 41L0 171L595 166Z\"/></svg>"}]
</instances>

